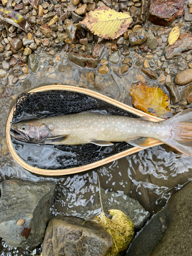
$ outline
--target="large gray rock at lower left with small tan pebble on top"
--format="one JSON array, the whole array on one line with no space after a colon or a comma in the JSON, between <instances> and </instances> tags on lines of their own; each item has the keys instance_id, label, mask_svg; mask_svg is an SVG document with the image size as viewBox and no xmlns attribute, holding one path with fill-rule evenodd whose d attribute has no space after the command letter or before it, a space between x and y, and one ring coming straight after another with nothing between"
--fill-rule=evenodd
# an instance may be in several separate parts
<instances>
[{"instance_id":1,"label":"large gray rock at lower left with small tan pebble on top","mask_svg":"<svg viewBox=\"0 0 192 256\"><path fill-rule=\"evenodd\" d=\"M36 246L52 218L55 182L20 179L0 183L0 237L10 247Z\"/></svg>"}]
</instances>

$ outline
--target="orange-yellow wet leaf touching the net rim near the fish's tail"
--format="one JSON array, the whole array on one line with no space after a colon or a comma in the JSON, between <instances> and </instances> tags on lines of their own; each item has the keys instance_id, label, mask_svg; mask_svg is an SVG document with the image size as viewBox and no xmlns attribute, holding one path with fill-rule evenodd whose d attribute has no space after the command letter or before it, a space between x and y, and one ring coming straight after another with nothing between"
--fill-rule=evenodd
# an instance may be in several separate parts
<instances>
[{"instance_id":1,"label":"orange-yellow wet leaf touching the net rim near the fish's tail","mask_svg":"<svg viewBox=\"0 0 192 256\"><path fill-rule=\"evenodd\" d=\"M167 118L170 115L170 99L160 87L149 87L145 83L132 84L130 95L136 109L152 116Z\"/></svg>"}]
</instances>

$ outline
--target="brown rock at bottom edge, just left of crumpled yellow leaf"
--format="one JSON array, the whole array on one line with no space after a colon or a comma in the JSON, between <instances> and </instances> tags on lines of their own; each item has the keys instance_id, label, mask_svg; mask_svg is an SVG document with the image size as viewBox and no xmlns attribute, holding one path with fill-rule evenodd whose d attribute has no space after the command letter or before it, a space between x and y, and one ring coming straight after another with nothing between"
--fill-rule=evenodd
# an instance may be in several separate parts
<instances>
[{"instance_id":1,"label":"brown rock at bottom edge, just left of crumpled yellow leaf","mask_svg":"<svg viewBox=\"0 0 192 256\"><path fill-rule=\"evenodd\" d=\"M92 255L104 256L113 239L96 222L84 222L77 217L55 217L47 227L42 256Z\"/></svg>"}]
</instances>

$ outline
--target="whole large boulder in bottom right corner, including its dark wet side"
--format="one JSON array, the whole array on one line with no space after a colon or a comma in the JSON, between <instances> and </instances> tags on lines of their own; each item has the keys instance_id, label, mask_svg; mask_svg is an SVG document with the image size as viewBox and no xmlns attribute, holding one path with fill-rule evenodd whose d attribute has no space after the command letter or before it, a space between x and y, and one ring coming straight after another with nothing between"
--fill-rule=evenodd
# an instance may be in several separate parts
<instances>
[{"instance_id":1,"label":"whole large boulder in bottom right corner, including its dark wet side","mask_svg":"<svg viewBox=\"0 0 192 256\"><path fill-rule=\"evenodd\" d=\"M191 255L191 207L192 182L174 194L167 206L144 226L126 255Z\"/></svg>"}]
</instances>

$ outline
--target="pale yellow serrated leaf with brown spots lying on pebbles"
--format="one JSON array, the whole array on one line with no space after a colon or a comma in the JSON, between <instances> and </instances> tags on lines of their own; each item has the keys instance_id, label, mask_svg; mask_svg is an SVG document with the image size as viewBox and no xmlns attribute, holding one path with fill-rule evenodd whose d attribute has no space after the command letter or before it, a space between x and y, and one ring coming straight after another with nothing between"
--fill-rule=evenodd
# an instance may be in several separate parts
<instances>
[{"instance_id":1,"label":"pale yellow serrated leaf with brown spots lying on pebbles","mask_svg":"<svg viewBox=\"0 0 192 256\"><path fill-rule=\"evenodd\" d=\"M80 22L86 25L94 35L105 39L115 39L122 35L132 23L132 17L103 6L86 14Z\"/></svg>"}]
</instances>

